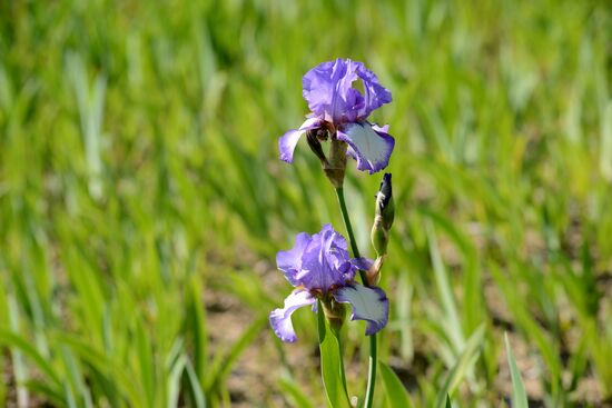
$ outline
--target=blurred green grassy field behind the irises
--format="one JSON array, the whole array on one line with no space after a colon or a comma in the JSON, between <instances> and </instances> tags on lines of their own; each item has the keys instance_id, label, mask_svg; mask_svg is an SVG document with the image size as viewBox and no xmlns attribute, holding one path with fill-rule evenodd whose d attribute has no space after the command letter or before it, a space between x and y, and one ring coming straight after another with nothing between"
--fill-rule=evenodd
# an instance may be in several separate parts
<instances>
[{"instance_id":1,"label":"blurred green grassy field behind the irises","mask_svg":"<svg viewBox=\"0 0 612 408\"><path fill-rule=\"evenodd\" d=\"M507 404L504 331L533 406L610 404L606 1L3 1L0 30L0 405L323 405L314 315L285 346L267 314L276 251L343 231L306 145L276 148L337 57L394 97L381 358L414 405L481 325L458 406ZM378 182L349 163L362 251Z\"/></svg>"}]
</instances>

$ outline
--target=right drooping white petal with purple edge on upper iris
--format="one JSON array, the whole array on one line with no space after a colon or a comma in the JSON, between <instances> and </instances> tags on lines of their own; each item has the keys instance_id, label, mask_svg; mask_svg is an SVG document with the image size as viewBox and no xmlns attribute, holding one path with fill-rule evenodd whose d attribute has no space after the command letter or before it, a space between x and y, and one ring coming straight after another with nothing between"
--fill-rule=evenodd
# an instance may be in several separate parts
<instances>
[{"instance_id":1,"label":"right drooping white petal with purple edge on upper iris","mask_svg":"<svg viewBox=\"0 0 612 408\"><path fill-rule=\"evenodd\" d=\"M337 138L349 146L347 153L357 160L358 170L371 175L387 167L395 139L383 128L368 122L348 123L338 130Z\"/></svg>"}]
</instances>

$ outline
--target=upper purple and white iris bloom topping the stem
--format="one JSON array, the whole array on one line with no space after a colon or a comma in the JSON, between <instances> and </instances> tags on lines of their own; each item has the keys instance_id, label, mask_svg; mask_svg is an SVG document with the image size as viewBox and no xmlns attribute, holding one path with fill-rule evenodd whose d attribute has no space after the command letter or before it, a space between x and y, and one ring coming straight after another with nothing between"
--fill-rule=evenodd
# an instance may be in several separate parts
<instances>
[{"instance_id":1,"label":"upper purple and white iris bloom topping the stem","mask_svg":"<svg viewBox=\"0 0 612 408\"><path fill-rule=\"evenodd\" d=\"M363 83L362 93L353 84ZM395 140L388 126L369 123L367 117L391 102L391 92L362 62L338 58L323 62L304 76L303 96L310 115L299 129L287 131L278 140L280 159L290 163L297 141L306 131L326 129L332 137L348 145L347 155L357 160L357 169L371 175L388 165Z\"/></svg>"}]
</instances>

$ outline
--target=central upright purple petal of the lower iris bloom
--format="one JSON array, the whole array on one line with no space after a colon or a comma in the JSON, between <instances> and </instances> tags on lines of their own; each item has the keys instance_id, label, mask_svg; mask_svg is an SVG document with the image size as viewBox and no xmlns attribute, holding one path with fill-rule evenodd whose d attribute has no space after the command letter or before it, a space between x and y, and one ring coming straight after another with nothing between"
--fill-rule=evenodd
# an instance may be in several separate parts
<instances>
[{"instance_id":1,"label":"central upright purple petal of the lower iris bloom","mask_svg":"<svg viewBox=\"0 0 612 408\"><path fill-rule=\"evenodd\" d=\"M327 292L354 279L355 268L349 260L346 240L326 223L306 246L295 280L308 290Z\"/></svg>"}]
</instances>

